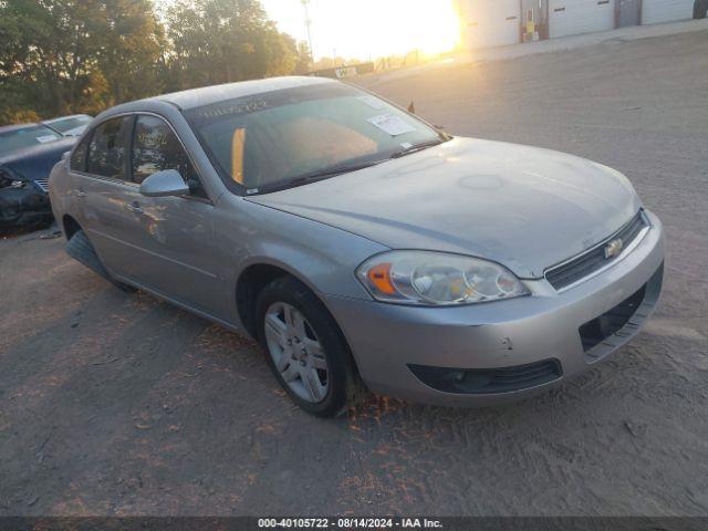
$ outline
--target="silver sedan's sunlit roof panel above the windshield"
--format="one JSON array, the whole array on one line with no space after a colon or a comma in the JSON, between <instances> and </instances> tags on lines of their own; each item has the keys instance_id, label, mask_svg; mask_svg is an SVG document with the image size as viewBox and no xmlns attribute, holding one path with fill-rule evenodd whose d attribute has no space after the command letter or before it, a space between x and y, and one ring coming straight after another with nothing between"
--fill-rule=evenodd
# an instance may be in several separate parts
<instances>
[{"instance_id":1,"label":"silver sedan's sunlit roof panel above the windshield","mask_svg":"<svg viewBox=\"0 0 708 531\"><path fill-rule=\"evenodd\" d=\"M147 100L169 102L181 110L189 110L200 107L202 105L209 105L211 103L222 102L225 100L233 100L236 97L280 91L282 88L319 85L322 83L336 82L334 80L312 76L269 77L267 80L241 81L238 83L226 83L223 85L190 88L188 91L173 92L170 94L164 94Z\"/></svg>"}]
</instances>

